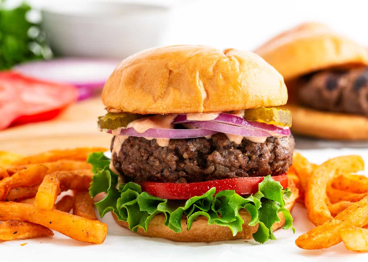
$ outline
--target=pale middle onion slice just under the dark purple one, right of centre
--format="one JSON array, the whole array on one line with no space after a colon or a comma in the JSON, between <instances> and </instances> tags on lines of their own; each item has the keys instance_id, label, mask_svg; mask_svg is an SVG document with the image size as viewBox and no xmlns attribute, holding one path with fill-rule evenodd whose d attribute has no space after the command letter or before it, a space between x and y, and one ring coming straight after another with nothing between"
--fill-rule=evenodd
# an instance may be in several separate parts
<instances>
[{"instance_id":1,"label":"pale middle onion slice just under the dark purple one, right of centre","mask_svg":"<svg viewBox=\"0 0 368 262\"><path fill-rule=\"evenodd\" d=\"M270 133L263 130L238 127L236 125L223 124L215 121L191 121L187 124L194 127L205 128L225 134L243 135L245 137L271 137Z\"/></svg>"}]
</instances>

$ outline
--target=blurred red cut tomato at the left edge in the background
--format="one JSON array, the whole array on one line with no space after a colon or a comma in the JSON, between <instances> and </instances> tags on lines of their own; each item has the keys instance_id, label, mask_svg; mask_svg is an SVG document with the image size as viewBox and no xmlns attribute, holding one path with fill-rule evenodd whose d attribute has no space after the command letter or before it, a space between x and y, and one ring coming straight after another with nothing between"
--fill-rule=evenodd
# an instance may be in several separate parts
<instances>
[{"instance_id":1,"label":"blurred red cut tomato at the left edge in the background","mask_svg":"<svg viewBox=\"0 0 368 262\"><path fill-rule=\"evenodd\" d=\"M57 116L77 100L77 88L23 76L12 71L0 72L0 130L13 123L44 121Z\"/></svg>"}]
</instances>

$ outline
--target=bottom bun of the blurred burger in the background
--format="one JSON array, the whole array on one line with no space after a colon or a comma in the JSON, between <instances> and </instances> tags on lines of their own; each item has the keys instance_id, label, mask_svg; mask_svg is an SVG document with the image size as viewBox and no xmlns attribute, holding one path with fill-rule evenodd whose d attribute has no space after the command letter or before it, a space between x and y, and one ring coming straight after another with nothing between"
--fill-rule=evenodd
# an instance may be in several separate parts
<instances>
[{"instance_id":1,"label":"bottom bun of the blurred burger in the background","mask_svg":"<svg viewBox=\"0 0 368 262\"><path fill-rule=\"evenodd\" d=\"M291 131L309 137L343 140L368 139L368 117L357 114L322 112L286 105L293 116Z\"/></svg>"}]
</instances>

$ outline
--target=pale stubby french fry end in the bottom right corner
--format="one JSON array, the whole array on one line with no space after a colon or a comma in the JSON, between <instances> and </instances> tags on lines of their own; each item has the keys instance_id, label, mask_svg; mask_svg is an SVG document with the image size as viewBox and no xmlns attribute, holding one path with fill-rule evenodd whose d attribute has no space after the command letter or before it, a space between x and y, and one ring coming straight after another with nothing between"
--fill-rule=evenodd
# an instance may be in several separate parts
<instances>
[{"instance_id":1,"label":"pale stubby french fry end in the bottom right corner","mask_svg":"<svg viewBox=\"0 0 368 262\"><path fill-rule=\"evenodd\" d=\"M368 251L368 229L346 228L340 232L347 250L356 252Z\"/></svg>"}]
</instances>

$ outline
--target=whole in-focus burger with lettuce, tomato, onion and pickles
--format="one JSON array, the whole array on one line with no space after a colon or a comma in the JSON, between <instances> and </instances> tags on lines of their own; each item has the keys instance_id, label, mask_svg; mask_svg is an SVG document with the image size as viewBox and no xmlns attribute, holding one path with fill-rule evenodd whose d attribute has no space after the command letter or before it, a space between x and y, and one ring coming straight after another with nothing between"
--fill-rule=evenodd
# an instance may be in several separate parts
<instances>
[{"instance_id":1,"label":"whole in-focus burger with lettuce, tomato, onion and pickles","mask_svg":"<svg viewBox=\"0 0 368 262\"><path fill-rule=\"evenodd\" d=\"M292 228L294 139L283 77L258 55L169 46L124 59L107 80L90 194L134 232L182 242L275 239Z\"/></svg>"}]
</instances>

